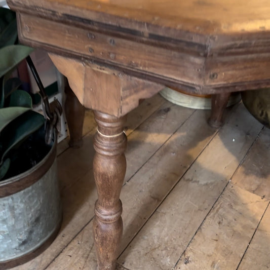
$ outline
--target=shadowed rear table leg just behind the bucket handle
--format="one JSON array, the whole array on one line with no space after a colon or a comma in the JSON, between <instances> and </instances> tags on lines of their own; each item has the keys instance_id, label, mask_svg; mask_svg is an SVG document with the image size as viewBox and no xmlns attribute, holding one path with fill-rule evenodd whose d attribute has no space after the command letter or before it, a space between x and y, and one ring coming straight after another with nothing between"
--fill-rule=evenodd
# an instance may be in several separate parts
<instances>
[{"instance_id":1,"label":"shadowed rear table leg just behind the bucket handle","mask_svg":"<svg viewBox=\"0 0 270 270\"><path fill-rule=\"evenodd\" d=\"M64 83L66 94L65 115L70 137L69 146L81 147L83 145L85 107L71 90L66 78L64 78Z\"/></svg>"}]
</instances>

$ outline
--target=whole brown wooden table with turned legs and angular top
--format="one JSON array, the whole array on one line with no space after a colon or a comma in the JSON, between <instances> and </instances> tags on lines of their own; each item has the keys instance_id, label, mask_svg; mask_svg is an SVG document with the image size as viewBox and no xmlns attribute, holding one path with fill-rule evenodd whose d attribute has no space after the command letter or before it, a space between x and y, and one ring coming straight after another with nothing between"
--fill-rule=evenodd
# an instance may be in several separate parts
<instances>
[{"instance_id":1,"label":"whole brown wooden table with turned legs and angular top","mask_svg":"<svg viewBox=\"0 0 270 270\"><path fill-rule=\"evenodd\" d=\"M99 269L114 269L123 230L119 196L126 171L124 115L164 86L180 87L188 93L212 94L209 122L219 126L231 92L270 86L270 4L268 0L8 0L8 4L18 12L20 41L47 50L79 101L95 111L94 238ZM76 110L68 107L71 113Z\"/></svg>"}]
</instances>

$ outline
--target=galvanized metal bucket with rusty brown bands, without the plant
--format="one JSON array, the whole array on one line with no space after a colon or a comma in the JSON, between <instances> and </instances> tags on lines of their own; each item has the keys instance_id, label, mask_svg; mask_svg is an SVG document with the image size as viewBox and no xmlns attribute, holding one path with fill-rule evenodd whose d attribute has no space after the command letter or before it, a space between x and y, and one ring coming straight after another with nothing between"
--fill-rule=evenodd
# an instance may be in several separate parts
<instances>
[{"instance_id":1,"label":"galvanized metal bucket with rusty brown bands, without the plant","mask_svg":"<svg viewBox=\"0 0 270 270\"><path fill-rule=\"evenodd\" d=\"M0 269L40 254L60 229L56 144L55 139L48 155L36 166L0 182Z\"/></svg>"}]
</instances>

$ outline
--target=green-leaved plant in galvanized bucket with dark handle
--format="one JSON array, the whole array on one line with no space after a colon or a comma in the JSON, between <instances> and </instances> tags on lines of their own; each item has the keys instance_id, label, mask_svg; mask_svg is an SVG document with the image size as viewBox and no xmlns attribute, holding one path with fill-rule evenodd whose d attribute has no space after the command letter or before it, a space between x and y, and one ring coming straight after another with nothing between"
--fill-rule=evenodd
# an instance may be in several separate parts
<instances>
[{"instance_id":1,"label":"green-leaved plant in galvanized bucket with dark handle","mask_svg":"<svg viewBox=\"0 0 270 270\"><path fill-rule=\"evenodd\" d=\"M0 8L0 268L24 263L56 237L61 207L56 174L53 111L29 58L32 49L17 44L16 14ZM32 110L29 93L12 78L24 58L45 100L45 117Z\"/></svg>"}]
</instances>

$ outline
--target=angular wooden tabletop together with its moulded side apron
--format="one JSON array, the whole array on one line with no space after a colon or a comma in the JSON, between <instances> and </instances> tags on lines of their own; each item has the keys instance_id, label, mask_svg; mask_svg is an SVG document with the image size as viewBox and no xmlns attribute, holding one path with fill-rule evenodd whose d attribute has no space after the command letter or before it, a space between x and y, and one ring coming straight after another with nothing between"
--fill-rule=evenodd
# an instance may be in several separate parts
<instances>
[{"instance_id":1,"label":"angular wooden tabletop together with its moulded side apron","mask_svg":"<svg viewBox=\"0 0 270 270\"><path fill-rule=\"evenodd\" d=\"M20 40L195 93L270 86L268 0L8 0Z\"/></svg>"}]
</instances>

